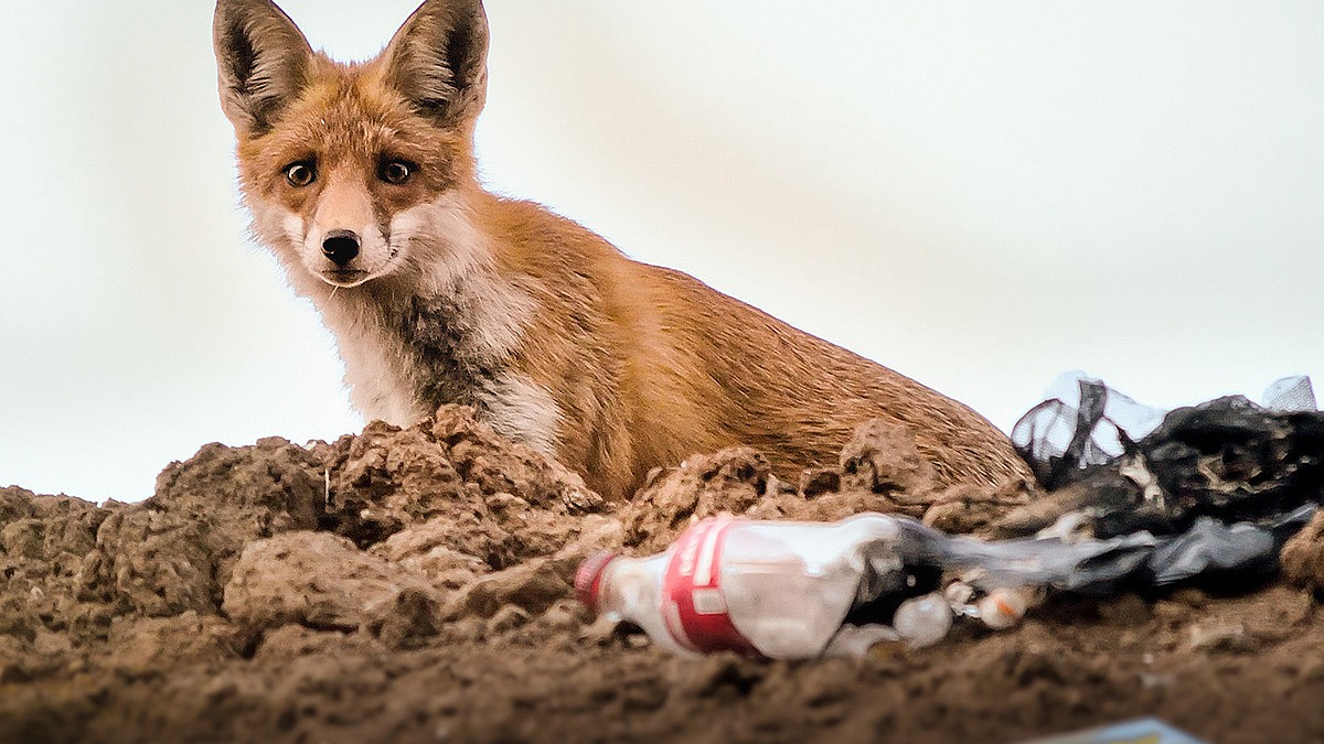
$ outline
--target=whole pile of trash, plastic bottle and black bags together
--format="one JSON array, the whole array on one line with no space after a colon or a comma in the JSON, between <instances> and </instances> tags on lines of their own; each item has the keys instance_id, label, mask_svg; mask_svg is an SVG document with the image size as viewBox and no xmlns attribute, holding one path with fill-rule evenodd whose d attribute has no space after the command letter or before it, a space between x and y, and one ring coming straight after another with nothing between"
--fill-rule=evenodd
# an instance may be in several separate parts
<instances>
[{"instance_id":1,"label":"whole pile of trash, plastic bottle and black bags together","mask_svg":"<svg viewBox=\"0 0 1324 744\"><path fill-rule=\"evenodd\" d=\"M1276 383L1270 406L1237 396L1168 414L1075 381L1076 396L1013 430L1049 492L993 524L1002 539L883 514L714 516L663 553L589 559L577 594L678 654L789 659L928 646L972 622L1004 629L1053 594L1230 588L1278 571L1324 494L1308 379Z\"/></svg>"}]
</instances>

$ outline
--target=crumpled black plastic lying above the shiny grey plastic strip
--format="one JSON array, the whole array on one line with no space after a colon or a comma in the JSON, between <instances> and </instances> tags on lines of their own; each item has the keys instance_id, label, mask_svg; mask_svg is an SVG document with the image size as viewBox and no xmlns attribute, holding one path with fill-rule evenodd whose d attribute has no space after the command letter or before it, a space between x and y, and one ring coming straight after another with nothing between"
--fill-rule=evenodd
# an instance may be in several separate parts
<instances>
[{"instance_id":1,"label":"crumpled black plastic lying above the shiny grey plastic strip","mask_svg":"<svg viewBox=\"0 0 1324 744\"><path fill-rule=\"evenodd\" d=\"M1270 410L1230 396L1178 408L1132 441L1103 416L1108 396L1102 383L1082 381L1076 425L1061 454L1035 436L1045 426L1039 406L1013 429L1013 441L1050 491L1050 503L1061 494L1061 508L1041 510L1038 519L1013 532L1033 532L1068 511L1082 511L1100 537L1139 530L1177 534L1201 516L1222 523L1272 520L1320 503L1324 413ZM1099 449L1091 442L1100 437L1120 441L1121 454L1091 454Z\"/></svg>"}]
</instances>

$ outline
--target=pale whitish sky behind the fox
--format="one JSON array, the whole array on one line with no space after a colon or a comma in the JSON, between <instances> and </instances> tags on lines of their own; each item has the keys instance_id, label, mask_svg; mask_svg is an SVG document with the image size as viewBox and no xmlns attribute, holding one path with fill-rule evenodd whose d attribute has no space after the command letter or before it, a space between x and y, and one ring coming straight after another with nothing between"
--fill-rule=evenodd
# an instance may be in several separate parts
<instances>
[{"instance_id":1,"label":"pale whitish sky behind the fox","mask_svg":"<svg viewBox=\"0 0 1324 744\"><path fill-rule=\"evenodd\" d=\"M416 0L286 0L373 54ZM1324 4L490 0L479 158L1004 429L1324 376ZM361 428L246 241L212 4L0 7L0 485L136 500Z\"/></svg>"}]
</instances>

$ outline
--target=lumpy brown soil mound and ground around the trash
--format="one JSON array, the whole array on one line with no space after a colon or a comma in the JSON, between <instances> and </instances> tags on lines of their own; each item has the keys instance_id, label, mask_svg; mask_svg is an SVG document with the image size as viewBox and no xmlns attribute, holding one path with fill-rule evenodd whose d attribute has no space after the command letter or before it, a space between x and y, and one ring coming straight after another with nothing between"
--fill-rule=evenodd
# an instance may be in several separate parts
<instances>
[{"instance_id":1,"label":"lumpy brown soil mound and ground around the trash","mask_svg":"<svg viewBox=\"0 0 1324 744\"><path fill-rule=\"evenodd\" d=\"M933 492L895 434L798 483L695 457L624 506L458 408L211 445L140 504L0 490L0 741L1016 741L1140 715L1324 740L1324 522L1249 594L1059 601L863 659L673 658L569 598L591 552L719 511L976 530L1026 502Z\"/></svg>"}]
</instances>

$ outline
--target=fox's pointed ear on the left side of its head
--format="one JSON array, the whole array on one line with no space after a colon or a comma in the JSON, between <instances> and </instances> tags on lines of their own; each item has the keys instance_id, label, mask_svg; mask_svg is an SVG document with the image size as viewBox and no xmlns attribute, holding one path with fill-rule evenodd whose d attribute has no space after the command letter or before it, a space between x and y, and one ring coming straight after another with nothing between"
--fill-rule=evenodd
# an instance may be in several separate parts
<instances>
[{"instance_id":1,"label":"fox's pointed ear on the left side of its head","mask_svg":"<svg viewBox=\"0 0 1324 744\"><path fill-rule=\"evenodd\" d=\"M244 135L267 131L303 89L308 41L270 0L220 0L212 40L225 115Z\"/></svg>"}]
</instances>

